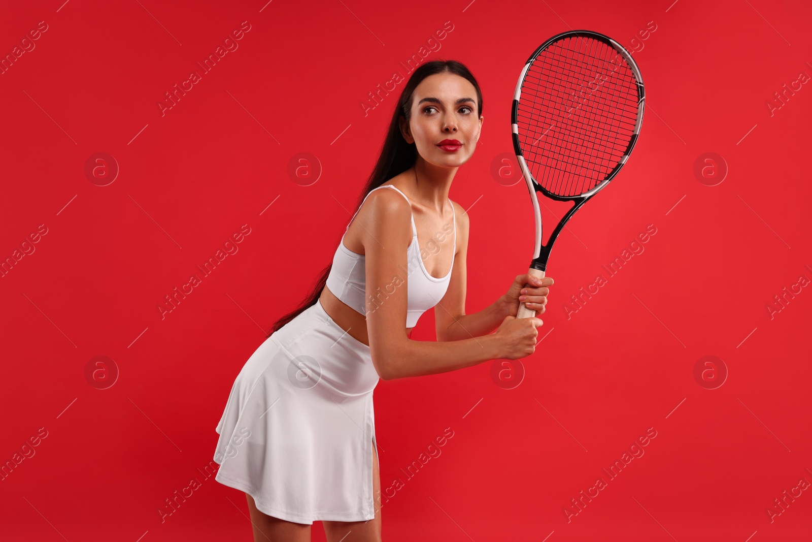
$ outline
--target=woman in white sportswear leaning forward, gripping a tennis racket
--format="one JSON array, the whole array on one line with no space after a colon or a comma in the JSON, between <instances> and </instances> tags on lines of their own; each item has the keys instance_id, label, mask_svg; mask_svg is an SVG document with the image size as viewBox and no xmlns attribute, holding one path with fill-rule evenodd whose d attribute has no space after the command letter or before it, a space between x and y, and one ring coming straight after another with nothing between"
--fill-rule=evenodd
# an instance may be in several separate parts
<instances>
[{"instance_id":1,"label":"woman in white sportswear leaning forward, gripping a tennis racket","mask_svg":"<svg viewBox=\"0 0 812 542\"><path fill-rule=\"evenodd\" d=\"M516 313L520 302L542 313L551 278L518 275L492 305L464 313L469 218L447 195L482 120L463 64L412 73L332 264L237 376L214 461L218 482L246 493L255 540L310 540L313 521L330 542L381 540L378 379L533 353L542 321ZM431 307L438 342L410 340Z\"/></svg>"}]
</instances>

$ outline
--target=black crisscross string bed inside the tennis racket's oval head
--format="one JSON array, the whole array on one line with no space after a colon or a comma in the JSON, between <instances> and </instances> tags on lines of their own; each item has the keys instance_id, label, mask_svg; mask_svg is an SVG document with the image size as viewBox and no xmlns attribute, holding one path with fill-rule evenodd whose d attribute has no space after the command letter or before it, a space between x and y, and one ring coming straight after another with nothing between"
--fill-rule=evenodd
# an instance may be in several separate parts
<instances>
[{"instance_id":1,"label":"black crisscross string bed inside the tennis racket's oval head","mask_svg":"<svg viewBox=\"0 0 812 542\"><path fill-rule=\"evenodd\" d=\"M593 38L562 41L533 59L516 122L533 177L538 180L544 167L542 186L570 196L594 188L614 169L634 132L639 105L637 80L613 47Z\"/></svg>"}]
</instances>

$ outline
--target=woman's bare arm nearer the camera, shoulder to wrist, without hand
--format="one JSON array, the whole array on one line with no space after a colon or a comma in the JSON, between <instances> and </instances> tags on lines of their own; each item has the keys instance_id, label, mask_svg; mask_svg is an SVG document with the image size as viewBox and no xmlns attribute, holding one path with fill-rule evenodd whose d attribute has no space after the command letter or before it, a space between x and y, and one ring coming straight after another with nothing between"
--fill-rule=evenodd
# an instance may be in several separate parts
<instances>
[{"instance_id":1,"label":"woman's bare arm nearer the camera, shoulder to wrist, without hand","mask_svg":"<svg viewBox=\"0 0 812 542\"><path fill-rule=\"evenodd\" d=\"M378 190L367 202L369 209L365 210L366 226L362 234L366 326L378 375L384 380L435 375L501 358L503 347L495 335L445 342L408 338L407 250L412 241L411 210L394 190Z\"/></svg>"}]
</instances>

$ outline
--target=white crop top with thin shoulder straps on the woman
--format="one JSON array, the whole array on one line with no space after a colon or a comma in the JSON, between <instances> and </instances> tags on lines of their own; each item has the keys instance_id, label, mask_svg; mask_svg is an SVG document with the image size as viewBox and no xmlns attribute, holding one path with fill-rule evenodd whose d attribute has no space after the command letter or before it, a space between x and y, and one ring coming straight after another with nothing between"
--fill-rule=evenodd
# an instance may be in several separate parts
<instances>
[{"instance_id":1,"label":"white crop top with thin shoulder straps on the woman","mask_svg":"<svg viewBox=\"0 0 812 542\"><path fill-rule=\"evenodd\" d=\"M406 197L406 194L400 192L391 184L382 184L376 189L372 189L369 193L382 188L395 189L401 196ZM364 198L369 197L369 194ZM408 197L406 197L408 202ZM364 205L361 202L361 206ZM448 200L451 202L451 200ZM411 208L411 202L409 207ZM361 206L358 210L361 210ZM456 210L454 204L451 204L451 210L454 211L454 254L451 255L451 270L442 279L435 279L426 271L423 258L420 254L420 246L417 245L417 227L414 225L414 215L412 214L412 243L408 245L407 262L408 262L408 277L405 279L407 284L407 310L406 310L406 327L414 327L417 320L420 319L421 314L437 305L438 301L443 298L448 289L448 283L451 280L451 271L454 269L454 258L456 257ZM356 215L358 211L356 210ZM355 219L355 215L352 215ZM350 219L350 223L352 223ZM349 229L349 224L347 229ZM347 235L347 230L344 231L344 236ZM356 254L352 250L344 246L344 236L341 236L339 248L335 250L335 257L333 258L333 267L330 269L330 275L327 276L326 286L330 288L335 297L357 310L359 313L366 315L366 268L365 268L365 255ZM419 271L418 271L419 269ZM382 288L378 288L378 293L374 294L374 299L371 301L374 307L381 306L386 300L388 295L395 292L395 288L403 284L404 278L397 277L400 280L393 280L391 284L387 284ZM388 294L388 295L387 295Z\"/></svg>"}]
</instances>

